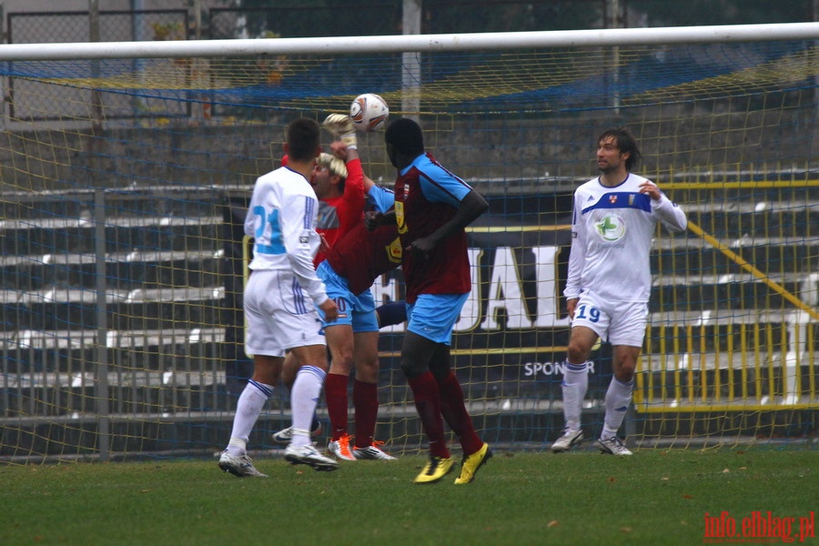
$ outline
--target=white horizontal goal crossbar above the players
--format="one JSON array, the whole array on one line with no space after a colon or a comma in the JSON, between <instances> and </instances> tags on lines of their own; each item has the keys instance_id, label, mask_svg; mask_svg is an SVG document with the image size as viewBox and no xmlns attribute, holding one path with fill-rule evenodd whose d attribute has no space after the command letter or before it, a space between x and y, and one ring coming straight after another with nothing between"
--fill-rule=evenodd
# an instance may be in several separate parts
<instances>
[{"instance_id":1,"label":"white horizontal goal crossbar above the players","mask_svg":"<svg viewBox=\"0 0 819 546\"><path fill-rule=\"evenodd\" d=\"M248 57L264 55L383 55L448 51L509 50L528 47L606 47L814 40L817 23L769 25L672 26L501 32L450 35L342 36L328 38L254 38L171 42L88 42L8 44L4 61L77 59Z\"/></svg>"}]
</instances>

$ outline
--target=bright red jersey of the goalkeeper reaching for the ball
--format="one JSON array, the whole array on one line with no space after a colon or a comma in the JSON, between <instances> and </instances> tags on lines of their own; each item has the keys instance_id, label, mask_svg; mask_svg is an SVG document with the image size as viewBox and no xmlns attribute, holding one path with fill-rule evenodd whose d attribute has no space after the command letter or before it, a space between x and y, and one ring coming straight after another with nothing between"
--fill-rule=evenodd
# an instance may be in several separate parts
<instances>
[{"instance_id":1,"label":"bright red jersey of the goalkeeper reaching for the ball","mask_svg":"<svg viewBox=\"0 0 819 546\"><path fill-rule=\"evenodd\" d=\"M319 221L316 231L327 239L330 247L345 233L361 223L364 217L364 170L360 159L347 163L344 194L332 199L319 200ZM319 266L325 255L319 250L313 265Z\"/></svg>"}]
</instances>

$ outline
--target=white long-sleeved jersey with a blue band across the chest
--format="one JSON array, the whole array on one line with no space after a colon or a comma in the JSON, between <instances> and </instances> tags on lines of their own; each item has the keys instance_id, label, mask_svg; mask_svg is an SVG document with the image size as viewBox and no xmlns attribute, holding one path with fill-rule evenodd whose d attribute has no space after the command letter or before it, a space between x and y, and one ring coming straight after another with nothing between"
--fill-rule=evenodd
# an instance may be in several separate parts
<instances>
[{"instance_id":1,"label":"white long-sleeved jersey with a blue band across the chest","mask_svg":"<svg viewBox=\"0 0 819 546\"><path fill-rule=\"evenodd\" d=\"M591 292L608 302L649 300L656 224L682 231L688 221L665 194L655 201L640 193L645 181L629 174L618 186L606 187L598 177L575 190L566 298Z\"/></svg>"}]
</instances>

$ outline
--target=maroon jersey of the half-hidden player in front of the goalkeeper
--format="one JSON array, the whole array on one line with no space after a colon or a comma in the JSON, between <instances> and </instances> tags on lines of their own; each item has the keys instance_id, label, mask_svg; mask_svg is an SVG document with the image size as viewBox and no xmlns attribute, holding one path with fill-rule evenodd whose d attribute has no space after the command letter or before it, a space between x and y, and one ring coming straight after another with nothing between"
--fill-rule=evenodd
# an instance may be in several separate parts
<instances>
[{"instance_id":1,"label":"maroon jersey of the half-hidden player in front of the goalkeeper","mask_svg":"<svg viewBox=\"0 0 819 546\"><path fill-rule=\"evenodd\" d=\"M367 231L361 221L329 249L327 261L339 277L347 279L350 293L358 295L376 278L401 265L398 227Z\"/></svg>"}]
</instances>

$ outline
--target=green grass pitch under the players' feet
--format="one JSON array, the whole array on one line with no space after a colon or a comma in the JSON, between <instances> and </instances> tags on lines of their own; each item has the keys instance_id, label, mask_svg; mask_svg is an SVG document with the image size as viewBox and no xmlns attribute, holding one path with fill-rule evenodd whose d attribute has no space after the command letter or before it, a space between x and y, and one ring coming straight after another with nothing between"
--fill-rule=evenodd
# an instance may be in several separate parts
<instances>
[{"instance_id":1,"label":"green grass pitch under the players' feet","mask_svg":"<svg viewBox=\"0 0 819 546\"><path fill-rule=\"evenodd\" d=\"M705 512L799 521L819 501L817 450L496 451L467 486L413 484L424 461L4 466L0 544L702 544Z\"/></svg>"}]
</instances>

